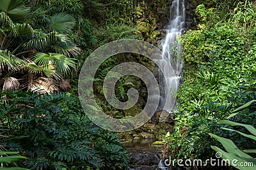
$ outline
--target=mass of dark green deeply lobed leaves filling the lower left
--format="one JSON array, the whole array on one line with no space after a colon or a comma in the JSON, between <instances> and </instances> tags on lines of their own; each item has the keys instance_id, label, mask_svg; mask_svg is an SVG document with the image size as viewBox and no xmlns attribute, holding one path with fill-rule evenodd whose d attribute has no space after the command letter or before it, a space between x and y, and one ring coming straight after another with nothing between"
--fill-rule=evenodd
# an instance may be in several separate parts
<instances>
[{"instance_id":1,"label":"mass of dark green deeply lobed leaves filling the lower left","mask_svg":"<svg viewBox=\"0 0 256 170\"><path fill-rule=\"evenodd\" d=\"M71 94L41 97L31 92L2 92L1 143L26 154L20 166L29 169L122 169L127 150L116 134L100 129ZM4 96L8 96L6 99ZM90 107L90 106L88 106ZM17 160L14 160L17 161Z\"/></svg>"}]
</instances>

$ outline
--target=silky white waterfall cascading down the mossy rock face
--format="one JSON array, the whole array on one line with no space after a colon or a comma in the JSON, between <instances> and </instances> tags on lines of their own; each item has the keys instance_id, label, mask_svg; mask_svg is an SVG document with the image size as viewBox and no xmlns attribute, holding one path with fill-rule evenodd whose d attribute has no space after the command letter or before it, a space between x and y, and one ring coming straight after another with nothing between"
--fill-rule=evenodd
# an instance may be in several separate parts
<instances>
[{"instance_id":1,"label":"silky white waterfall cascading down the mossy rock face","mask_svg":"<svg viewBox=\"0 0 256 170\"><path fill-rule=\"evenodd\" d=\"M177 41L177 36L182 34L185 26L185 0L173 0L172 6L170 7L170 23L166 28L166 36L161 43L163 56L165 55L172 64L173 71L164 69L166 60L161 61L163 66L164 74L159 74L159 86L161 89L161 98L159 103L159 110L166 110L172 112L172 108L175 105L175 98L172 98L172 92L177 91L180 85L180 76L182 76L182 59L180 58L181 46L180 42Z\"/></svg>"}]
</instances>

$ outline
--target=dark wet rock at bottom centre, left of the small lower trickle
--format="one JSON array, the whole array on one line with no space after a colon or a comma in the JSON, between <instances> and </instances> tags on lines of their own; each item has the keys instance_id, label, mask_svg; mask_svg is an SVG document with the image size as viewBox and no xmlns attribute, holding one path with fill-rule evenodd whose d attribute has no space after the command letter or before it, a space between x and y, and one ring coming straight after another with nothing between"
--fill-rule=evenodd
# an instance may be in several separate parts
<instances>
[{"instance_id":1,"label":"dark wet rock at bottom centre, left of the small lower trickle","mask_svg":"<svg viewBox=\"0 0 256 170\"><path fill-rule=\"evenodd\" d=\"M154 153L134 153L131 156L132 164L143 166L154 166L159 162L159 158Z\"/></svg>"}]
</instances>

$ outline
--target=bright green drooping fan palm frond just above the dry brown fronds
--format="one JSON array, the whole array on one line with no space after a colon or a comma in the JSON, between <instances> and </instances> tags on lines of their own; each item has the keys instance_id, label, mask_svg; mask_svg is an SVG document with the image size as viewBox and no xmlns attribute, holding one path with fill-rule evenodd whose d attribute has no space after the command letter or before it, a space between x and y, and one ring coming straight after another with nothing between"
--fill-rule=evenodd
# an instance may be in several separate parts
<instances>
[{"instance_id":1,"label":"bright green drooping fan palm frond just above the dry brown fronds","mask_svg":"<svg viewBox=\"0 0 256 170\"><path fill-rule=\"evenodd\" d=\"M49 62L52 62L56 66L56 70L63 73L64 76L68 76L71 73L71 68L76 69L75 59L60 53L35 53L31 59L40 66L47 66Z\"/></svg>"}]
</instances>

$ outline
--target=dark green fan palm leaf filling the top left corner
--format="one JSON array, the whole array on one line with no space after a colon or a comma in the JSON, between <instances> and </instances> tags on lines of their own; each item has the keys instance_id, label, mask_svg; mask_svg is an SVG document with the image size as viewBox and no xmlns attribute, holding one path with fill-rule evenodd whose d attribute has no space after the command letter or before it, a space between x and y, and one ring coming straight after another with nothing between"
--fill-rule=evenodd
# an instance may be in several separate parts
<instances>
[{"instance_id":1,"label":"dark green fan palm leaf filling the top left corner","mask_svg":"<svg viewBox=\"0 0 256 170\"><path fill-rule=\"evenodd\" d=\"M29 13L29 6L26 6L20 0L0 0L0 11L8 14L12 20L20 20Z\"/></svg>"}]
</instances>

